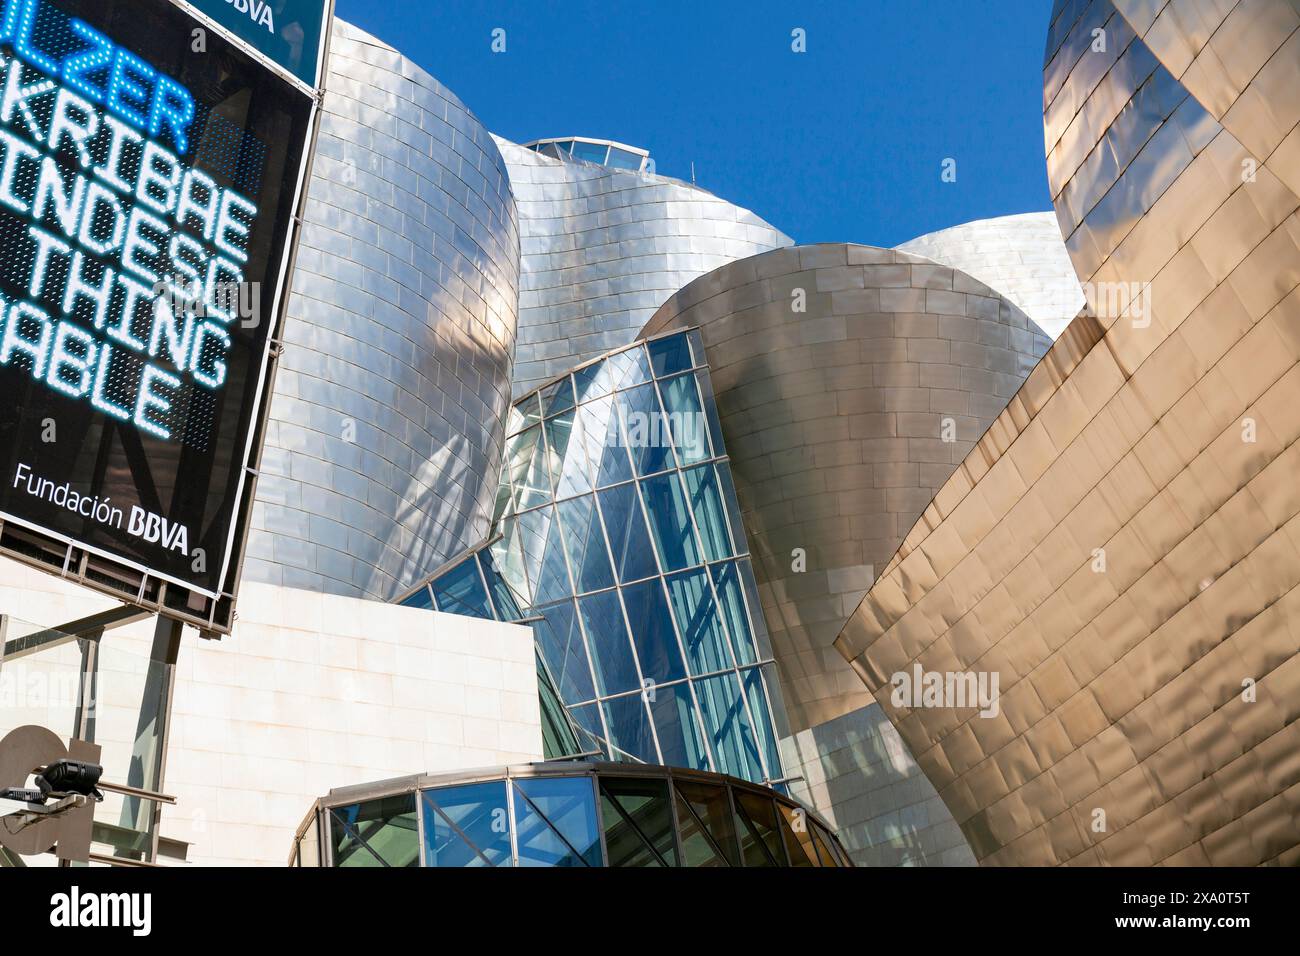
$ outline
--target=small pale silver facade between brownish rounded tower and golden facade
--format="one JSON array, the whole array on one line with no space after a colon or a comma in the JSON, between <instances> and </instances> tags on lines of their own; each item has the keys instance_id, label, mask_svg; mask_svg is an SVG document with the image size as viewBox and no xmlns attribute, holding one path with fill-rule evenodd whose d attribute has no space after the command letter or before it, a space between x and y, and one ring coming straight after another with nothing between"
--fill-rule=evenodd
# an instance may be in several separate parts
<instances>
[{"instance_id":1,"label":"small pale silver facade between brownish rounded tower and golden facade","mask_svg":"<svg viewBox=\"0 0 1300 956\"><path fill-rule=\"evenodd\" d=\"M979 280L1014 302L1052 338L1083 311L1083 287L1052 212L963 222L897 248Z\"/></svg>"}]
</instances>

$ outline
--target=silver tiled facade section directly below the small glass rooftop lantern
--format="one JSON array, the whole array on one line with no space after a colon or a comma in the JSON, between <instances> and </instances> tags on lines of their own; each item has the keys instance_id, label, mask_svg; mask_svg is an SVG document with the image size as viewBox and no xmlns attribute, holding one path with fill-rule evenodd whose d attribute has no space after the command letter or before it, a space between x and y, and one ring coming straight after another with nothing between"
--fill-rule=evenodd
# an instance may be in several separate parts
<instances>
[{"instance_id":1,"label":"silver tiled facade section directly below the small glass rooftop lantern","mask_svg":"<svg viewBox=\"0 0 1300 956\"><path fill-rule=\"evenodd\" d=\"M754 213L689 183L497 144L523 252L515 395L630 343L698 276L790 245Z\"/></svg>"}]
</instances>

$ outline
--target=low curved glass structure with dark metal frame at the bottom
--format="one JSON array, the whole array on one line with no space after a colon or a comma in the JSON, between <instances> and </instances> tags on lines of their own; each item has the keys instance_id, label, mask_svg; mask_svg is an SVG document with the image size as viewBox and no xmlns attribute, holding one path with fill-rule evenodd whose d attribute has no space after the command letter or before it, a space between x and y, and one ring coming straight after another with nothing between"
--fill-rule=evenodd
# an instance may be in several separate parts
<instances>
[{"instance_id":1,"label":"low curved glass structure with dark metal frame at the bottom","mask_svg":"<svg viewBox=\"0 0 1300 956\"><path fill-rule=\"evenodd\" d=\"M662 766L550 762L333 791L291 866L852 866L767 787Z\"/></svg>"}]
</instances>

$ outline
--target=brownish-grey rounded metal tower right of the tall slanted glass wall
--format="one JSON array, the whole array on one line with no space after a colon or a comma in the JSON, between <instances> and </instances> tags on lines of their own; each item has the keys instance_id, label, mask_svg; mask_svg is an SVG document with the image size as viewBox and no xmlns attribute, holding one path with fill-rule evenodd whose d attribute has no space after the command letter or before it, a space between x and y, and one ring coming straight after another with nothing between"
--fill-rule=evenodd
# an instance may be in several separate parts
<instances>
[{"instance_id":1,"label":"brownish-grey rounded metal tower right of the tall slanted glass wall","mask_svg":"<svg viewBox=\"0 0 1300 956\"><path fill-rule=\"evenodd\" d=\"M849 245L715 269L645 334L693 325L801 731L871 702L831 644L1049 339L962 272Z\"/></svg>"}]
</instances>

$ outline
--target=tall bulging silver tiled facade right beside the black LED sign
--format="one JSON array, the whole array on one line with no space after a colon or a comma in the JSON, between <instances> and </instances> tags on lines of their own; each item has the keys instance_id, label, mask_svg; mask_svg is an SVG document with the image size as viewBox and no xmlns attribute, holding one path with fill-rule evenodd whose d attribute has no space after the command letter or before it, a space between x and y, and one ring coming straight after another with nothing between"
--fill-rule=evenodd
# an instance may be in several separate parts
<instances>
[{"instance_id":1,"label":"tall bulging silver tiled facade right beside the black LED sign","mask_svg":"<svg viewBox=\"0 0 1300 956\"><path fill-rule=\"evenodd\" d=\"M335 23L244 574L389 600L480 541L510 405L519 233L491 135Z\"/></svg>"}]
</instances>

